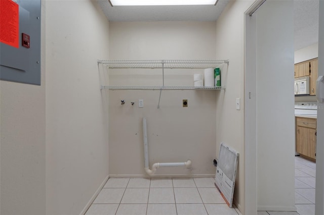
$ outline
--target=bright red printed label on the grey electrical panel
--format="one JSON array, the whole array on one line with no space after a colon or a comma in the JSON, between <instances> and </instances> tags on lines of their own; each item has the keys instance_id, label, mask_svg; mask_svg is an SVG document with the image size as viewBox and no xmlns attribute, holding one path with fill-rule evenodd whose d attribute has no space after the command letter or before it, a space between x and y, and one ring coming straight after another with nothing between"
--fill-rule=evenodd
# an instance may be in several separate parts
<instances>
[{"instance_id":1,"label":"bright red printed label on the grey electrical panel","mask_svg":"<svg viewBox=\"0 0 324 215\"><path fill-rule=\"evenodd\" d=\"M19 48L19 5L0 0L0 42Z\"/></svg>"}]
</instances>

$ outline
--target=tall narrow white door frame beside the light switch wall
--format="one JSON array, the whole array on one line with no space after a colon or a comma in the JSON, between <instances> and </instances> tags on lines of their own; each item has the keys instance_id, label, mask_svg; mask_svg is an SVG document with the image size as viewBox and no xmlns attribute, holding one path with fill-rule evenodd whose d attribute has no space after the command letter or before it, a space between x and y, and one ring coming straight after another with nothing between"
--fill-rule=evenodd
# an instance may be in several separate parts
<instances>
[{"instance_id":1,"label":"tall narrow white door frame beside the light switch wall","mask_svg":"<svg viewBox=\"0 0 324 215\"><path fill-rule=\"evenodd\" d=\"M256 133L256 18L250 16L261 0L256 1L244 14L245 92L244 92L244 150L245 150L245 214L257 214L257 133ZM249 38L249 39L247 39ZM249 49L247 48L249 47ZM250 50L250 51L249 51ZM249 191L249 192L247 192Z\"/></svg>"}]
</instances>

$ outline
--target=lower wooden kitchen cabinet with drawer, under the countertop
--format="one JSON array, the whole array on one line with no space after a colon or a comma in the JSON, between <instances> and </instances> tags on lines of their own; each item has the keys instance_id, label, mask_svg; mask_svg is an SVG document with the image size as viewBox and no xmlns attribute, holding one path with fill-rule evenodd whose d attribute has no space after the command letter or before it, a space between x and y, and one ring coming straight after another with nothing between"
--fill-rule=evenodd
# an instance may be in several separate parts
<instances>
[{"instance_id":1,"label":"lower wooden kitchen cabinet with drawer, under the countertop","mask_svg":"<svg viewBox=\"0 0 324 215\"><path fill-rule=\"evenodd\" d=\"M316 119L296 117L296 151L311 160L316 158Z\"/></svg>"}]
</instances>

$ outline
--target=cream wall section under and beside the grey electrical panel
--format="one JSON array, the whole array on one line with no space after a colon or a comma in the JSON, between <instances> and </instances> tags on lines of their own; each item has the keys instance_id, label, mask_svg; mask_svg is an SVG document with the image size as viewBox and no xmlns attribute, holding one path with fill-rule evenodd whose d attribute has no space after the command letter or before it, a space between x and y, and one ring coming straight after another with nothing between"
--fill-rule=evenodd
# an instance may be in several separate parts
<instances>
[{"instance_id":1,"label":"cream wall section under and beside the grey electrical panel","mask_svg":"<svg viewBox=\"0 0 324 215\"><path fill-rule=\"evenodd\" d=\"M42 2L42 37L45 36ZM45 214L45 40L41 86L0 81L0 214Z\"/></svg>"}]
</instances>

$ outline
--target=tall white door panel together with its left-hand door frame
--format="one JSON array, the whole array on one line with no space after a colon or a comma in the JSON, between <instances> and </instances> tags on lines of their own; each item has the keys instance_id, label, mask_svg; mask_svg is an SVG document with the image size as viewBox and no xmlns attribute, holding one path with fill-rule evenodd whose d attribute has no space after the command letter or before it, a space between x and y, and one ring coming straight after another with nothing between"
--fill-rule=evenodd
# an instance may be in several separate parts
<instances>
[{"instance_id":1,"label":"tall white door panel together with its left-hand door frame","mask_svg":"<svg viewBox=\"0 0 324 215\"><path fill-rule=\"evenodd\" d=\"M266 1L251 17L248 13L246 212L255 213L256 207L292 211L296 210L293 1Z\"/></svg>"}]
</instances>

